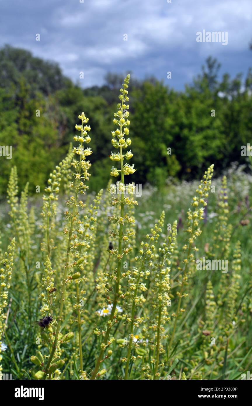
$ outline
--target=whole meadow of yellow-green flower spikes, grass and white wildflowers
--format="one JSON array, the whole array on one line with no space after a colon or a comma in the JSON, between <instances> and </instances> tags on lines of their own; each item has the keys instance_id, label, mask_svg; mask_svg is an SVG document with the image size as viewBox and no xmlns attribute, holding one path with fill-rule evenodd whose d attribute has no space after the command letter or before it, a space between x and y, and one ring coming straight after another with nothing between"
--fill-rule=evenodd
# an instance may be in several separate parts
<instances>
[{"instance_id":1,"label":"whole meadow of yellow-green flower spikes, grass and white wildflowers","mask_svg":"<svg viewBox=\"0 0 252 406\"><path fill-rule=\"evenodd\" d=\"M222 177L202 166L201 180L168 179L162 191L146 185L137 194L129 80L111 118L111 180L98 194L88 192L84 112L44 192L18 190L11 168L0 218L0 372L26 380L246 379L252 176L235 163Z\"/></svg>"}]
</instances>

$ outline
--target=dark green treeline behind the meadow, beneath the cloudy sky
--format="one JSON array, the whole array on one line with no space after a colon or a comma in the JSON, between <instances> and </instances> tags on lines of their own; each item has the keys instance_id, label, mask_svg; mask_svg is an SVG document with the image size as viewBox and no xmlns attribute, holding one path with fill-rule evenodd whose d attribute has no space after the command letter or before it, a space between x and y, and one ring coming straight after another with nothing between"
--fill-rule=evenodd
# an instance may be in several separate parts
<instances>
[{"instance_id":1,"label":"dark green treeline behind the meadow, beneath the cloudy sky","mask_svg":"<svg viewBox=\"0 0 252 406\"><path fill-rule=\"evenodd\" d=\"M226 73L220 80L219 69L209 57L184 92L155 78L139 81L133 76L129 118L137 183L162 187L169 176L191 179L211 163L218 174L230 162L246 162L241 146L252 143L252 71L246 78L237 74L231 79ZM108 73L103 86L82 89L56 63L9 45L2 48L0 145L12 145L12 159L0 158L0 195L13 165L21 187L29 181L31 193L37 185L43 188L65 156L82 111L91 126L90 189L104 187L112 166L112 121L123 78Z\"/></svg>"}]
</instances>

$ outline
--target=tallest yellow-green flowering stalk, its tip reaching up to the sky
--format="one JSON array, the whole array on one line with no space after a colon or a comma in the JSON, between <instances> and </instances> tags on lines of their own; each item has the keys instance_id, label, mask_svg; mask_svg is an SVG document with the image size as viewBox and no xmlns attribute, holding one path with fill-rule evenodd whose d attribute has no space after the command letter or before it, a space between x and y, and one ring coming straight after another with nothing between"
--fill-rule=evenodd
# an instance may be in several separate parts
<instances>
[{"instance_id":1,"label":"tallest yellow-green flowering stalk, its tip reaching up to the sky","mask_svg":"<svg viewBox=\"0 0 252 406\"><path fill-rule=\"evenodd\" d=\"M131 145L131 139L127 138L125 140L125 136L129 135L129 124L130 121L128 120L129 117L129 112L127 111L129 109L129 105L125 104L129 101L129 97L127 96L128 91L127 88L129 87L129 79L130 76L127 75L127 77L124 80L123 83L123 88L120 89L121 95L119 96L119 99L121 100L121 103L117 105L118 111L114 113L114 121L113 123L117 125L116 131L112 131L112 145L114 148L118 149L119 151L116 153L111 153L110 159L115 162L120 162L121 164L121 169L117 169L114 166L111 169L110 175L114 177L118 177L121 173L121 182L118 182L118 188L121 193L121 199L118 197L114 197L112 200L112 205L113 206L119 206L120 207L120 215L116 216L113 215L110 217L110 220L119 226L119 232L112 230L110 232L111 238L118 238L118 249L114 250L114 254L117 255L117 268L113 274L111 274L110 279L112 283L115 284L114 288L112 286L107 287L108 291L108 296L107 296L107 302L108 304L112 305L111 313L110 313L110 318L108 320L108 325L106 332L104 334L103 341L101 343L101 349L95 364L95 368L93 370L93 374L91 376L91 379L94 380L97 375L99 376L99 368L101 361L103 360L103 353L106 350L107 346L110 344L109 337L110 337L110 330L112 328L112 325L117 322L116 320L116 306L118 304L119 299L122 297L122 292L121 292L121 286L120 286L120 279L121 279L121 264L122 264L122 258L123 255L126 255L129 253L130 248L124 248L123 249L123 242L126 242L129 240L129 235L128 233L123 233L123 226L126 225L127 223L134 222L134 219L132 219L130 216L124 213L124 207L125 205L132 206L134 204L137 204L136 201L134 201L133 198L125 197L125 185L124 185L124 175L129 175L131 173L134 173L136 169L134 169L134 165L129 165L128 163L124 164L123 161L129 160L132 158L133 154L131 151L127 151L125 154L123 154L123 149L126 149L128 145ZM110 293L113 292L113 298L110 297ZM111 353L110 353L111 354ZM107 354L107 357L110 355Z\"/></svg>"}]
</instances>

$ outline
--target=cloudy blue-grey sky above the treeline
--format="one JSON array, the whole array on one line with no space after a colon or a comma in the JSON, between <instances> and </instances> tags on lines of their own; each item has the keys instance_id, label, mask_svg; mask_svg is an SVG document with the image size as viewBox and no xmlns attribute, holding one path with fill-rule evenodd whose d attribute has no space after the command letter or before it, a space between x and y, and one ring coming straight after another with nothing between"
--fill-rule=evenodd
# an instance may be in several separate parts
<instances>
[{"instance_id":1,"label":"cloudy blue-grey sky above the treeline","mask_svg":"<svg viewBox=\"0 0 252 406\"><path fill-rule=\"evenodd\" d=\"M197 42L203 30L228 32L227 45ZM131 71L183 89L209 55L246 75L251 39L252 0L0 0L0 46L54 60L74 82L83 71L84 87Z\"/></svg>"}]
</instances>

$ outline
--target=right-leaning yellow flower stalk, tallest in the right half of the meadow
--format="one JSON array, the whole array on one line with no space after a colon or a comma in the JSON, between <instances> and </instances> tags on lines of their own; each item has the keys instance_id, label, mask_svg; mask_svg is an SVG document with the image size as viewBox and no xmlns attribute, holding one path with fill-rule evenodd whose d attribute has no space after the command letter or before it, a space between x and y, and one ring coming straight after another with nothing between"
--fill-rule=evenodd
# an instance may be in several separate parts
<instances>
[{"instance_id":1,"label":"right-leaning yellow flower stalk, tallest in the right half of the meadow","mask_svg":"<svg viewBox=\"0 0 252 406\"><path fill-rule=\"evenodd\" d=\"M190 266L190 263L194 262L194 255L192 254L192 251L198 251L198 248L194 246L194 242L196 238L201 234L201 229L198 227L200 220L203 220L203 215L204 215L204 207L207 205L207 197L209 196L209 192L211 190L211 179L213 176L213 165L209 166L207 171L205 171L205 174L203 176L203 179L200 181L200 185L198 186L198 189L196 189L196 193L198 196L194 196L192 199L192 207L193 209L189 209L187 212L187 241L186 244L183 246L183 251L186 254L186 258L184 259L184 269L182 273L182 282L181 282L181 287L179 292L177 292L177 296L179 298L178 300L178 305L177 305L177 311L175 314L175 321L172 329L172 335L170 337L170 343L168 346L168 356L170 354L170 349L172 346L172 342L174 339L176 327L177 327L177 320L179 317L180 313L183 313L183 309L181 309L181 300L183 296L188 296L187 294L183 293L184 285L185 282L187 281L188 278L188 269Z\"/></svg>"}]
</instances>

